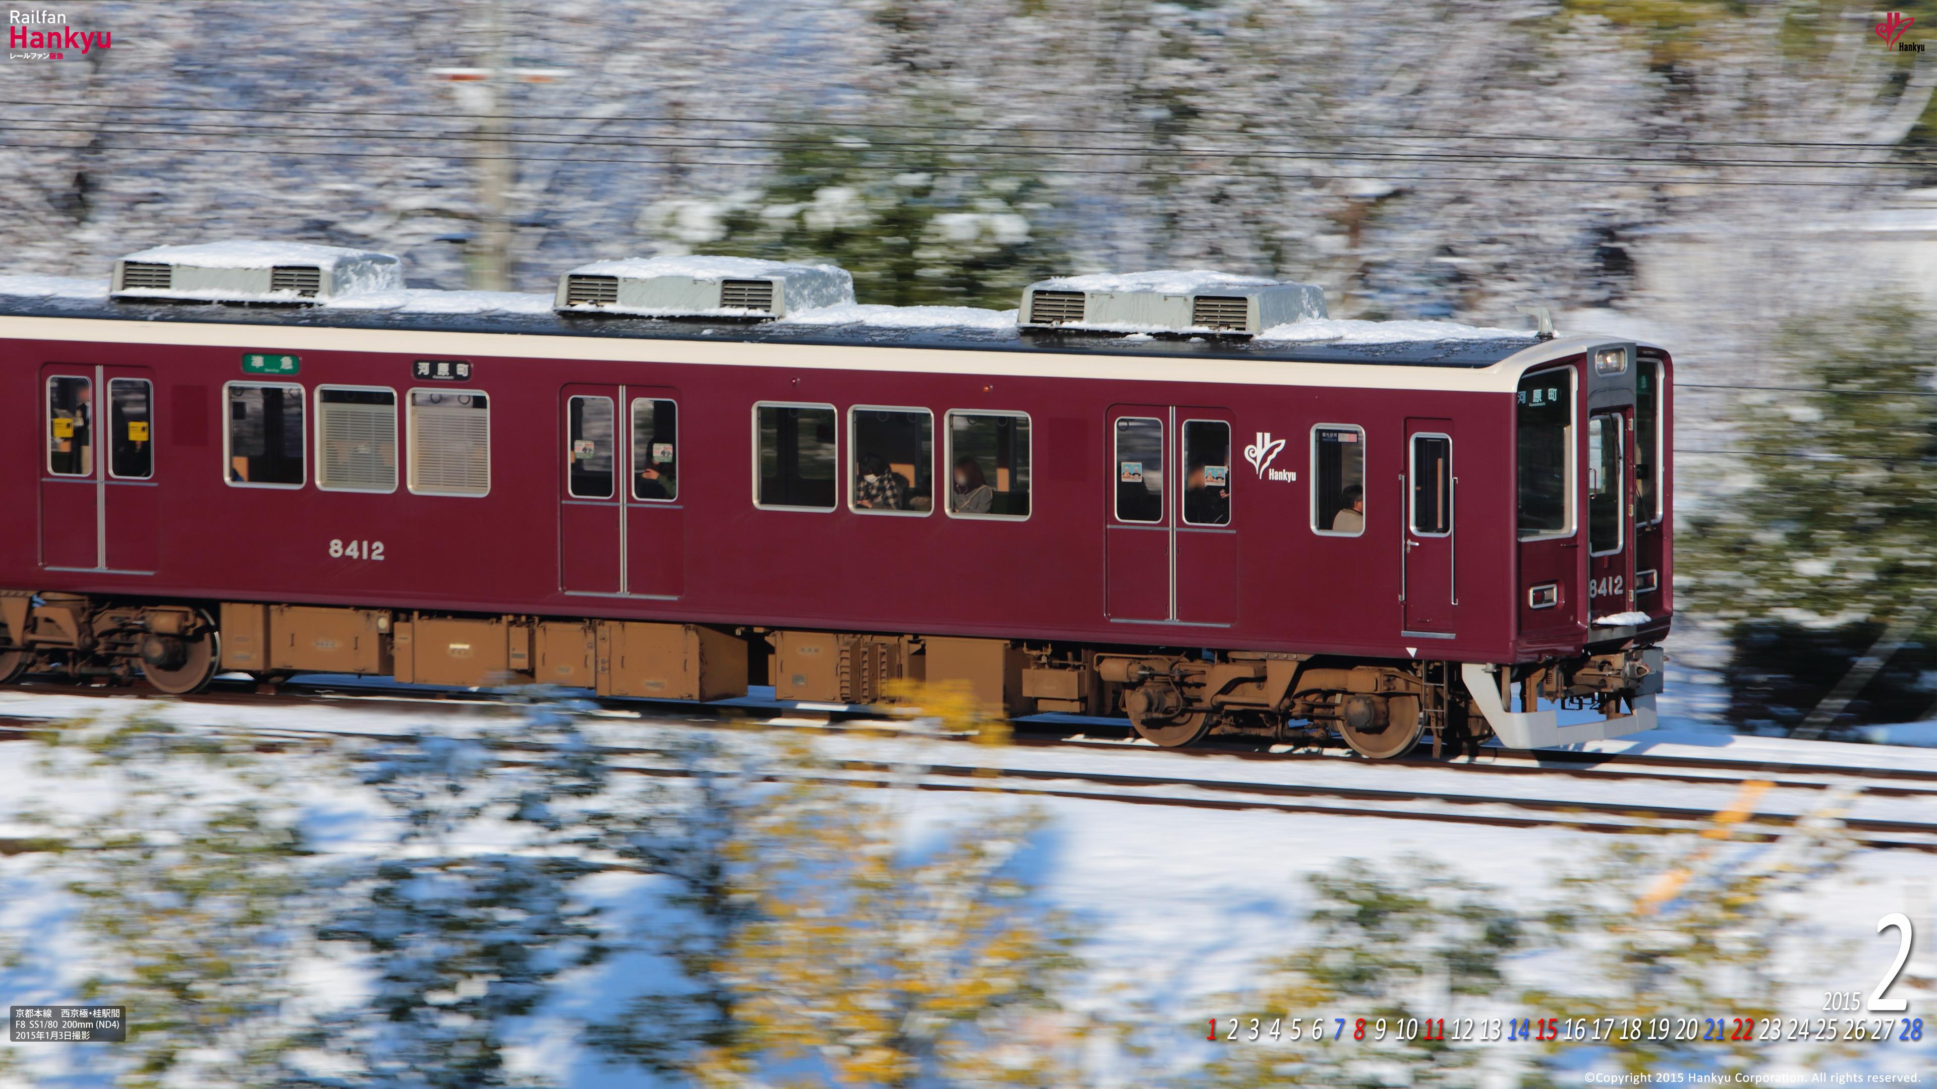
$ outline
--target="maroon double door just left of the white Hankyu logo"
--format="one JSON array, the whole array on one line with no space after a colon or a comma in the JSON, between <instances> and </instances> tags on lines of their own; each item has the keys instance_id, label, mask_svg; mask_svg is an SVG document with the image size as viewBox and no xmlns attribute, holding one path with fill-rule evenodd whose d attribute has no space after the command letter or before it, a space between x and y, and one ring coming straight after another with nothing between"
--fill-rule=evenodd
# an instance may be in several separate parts
<instances>
[{"instance_id":1,"label":"maroon double door just left of the white Hankyu logo","mask_svg":"<svg viewBox=\"0 0 1937 1089\"><path fill-rule=\"evenodd\" d=\"M1232 624L1232 415L1116 405L1106 420L1104 612L1143 624Z\"/></svg>"}]
</instances>

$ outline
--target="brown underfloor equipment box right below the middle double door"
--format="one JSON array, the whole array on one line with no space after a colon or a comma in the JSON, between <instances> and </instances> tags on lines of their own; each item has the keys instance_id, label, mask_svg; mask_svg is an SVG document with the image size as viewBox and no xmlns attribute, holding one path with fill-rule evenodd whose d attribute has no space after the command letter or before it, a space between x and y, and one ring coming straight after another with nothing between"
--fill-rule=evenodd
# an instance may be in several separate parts
<instances>
[{"instance_id":1,"label":"brown underfloor equipment box right below the middle double door","mask_svg":"<svg viewBox=\"0 0 1937 1089\"><path fill-rule=\"evenodd\" d=\"M699 624L600 620L595 688L651 700L746 696L746 639Z\"/></svg>"}]
</instances>

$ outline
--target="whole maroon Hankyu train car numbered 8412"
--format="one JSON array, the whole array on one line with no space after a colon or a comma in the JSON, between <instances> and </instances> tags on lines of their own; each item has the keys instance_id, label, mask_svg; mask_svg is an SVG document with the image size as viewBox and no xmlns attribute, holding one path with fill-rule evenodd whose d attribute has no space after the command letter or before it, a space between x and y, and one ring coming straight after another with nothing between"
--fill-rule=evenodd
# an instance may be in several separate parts
<instances>
[{"instance_id":1,"label":"whole maroon Hankyu train car numbered 8412","mask_svg":"<svg viewBox=\"0 0 1937 1089\"><path fill-rule=\"evenodd\" d=\"M1670 389L1596 337L0 296L0 680L965 680L1166 746L1612 736L1660 690Z\"/></svg>"}]
</instances>

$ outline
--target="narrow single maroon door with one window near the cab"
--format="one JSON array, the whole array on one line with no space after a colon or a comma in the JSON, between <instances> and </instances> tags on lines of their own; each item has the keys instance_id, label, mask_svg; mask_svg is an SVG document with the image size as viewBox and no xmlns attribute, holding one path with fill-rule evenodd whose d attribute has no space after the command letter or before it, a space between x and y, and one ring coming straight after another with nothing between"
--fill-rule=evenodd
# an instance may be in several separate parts
<instances>
[{"instance_id":1,"label":"narrow single maroon door with one window near the cab","mask_svg":"<svg viewBox=\"0 0 1937 1089\"><path fill-rule=\"evenodd\" d=\"M1406 517L1399 546L1402 634L1451 639L1459 610L1453 420L1408 419L1404 467L1400 488Z\"/></svg>"}]
</instances>

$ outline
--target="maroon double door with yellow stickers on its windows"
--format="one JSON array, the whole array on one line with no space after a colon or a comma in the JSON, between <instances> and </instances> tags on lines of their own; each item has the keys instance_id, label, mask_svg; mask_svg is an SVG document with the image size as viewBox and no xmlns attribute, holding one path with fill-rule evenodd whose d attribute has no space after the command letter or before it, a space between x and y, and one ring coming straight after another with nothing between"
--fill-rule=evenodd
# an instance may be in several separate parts
<instances>
[{"instance_id":1,"label":"maroon double door with yellow stickers on its windows","mask_svg":"<svg viewBox=\"0 0 1937 1089\"><path fill-rule=\"evenodd\" d=\"M41 564L153 574L159 488L155 384L143 368L41 372Z\"/></svg>"}]
</instances>

